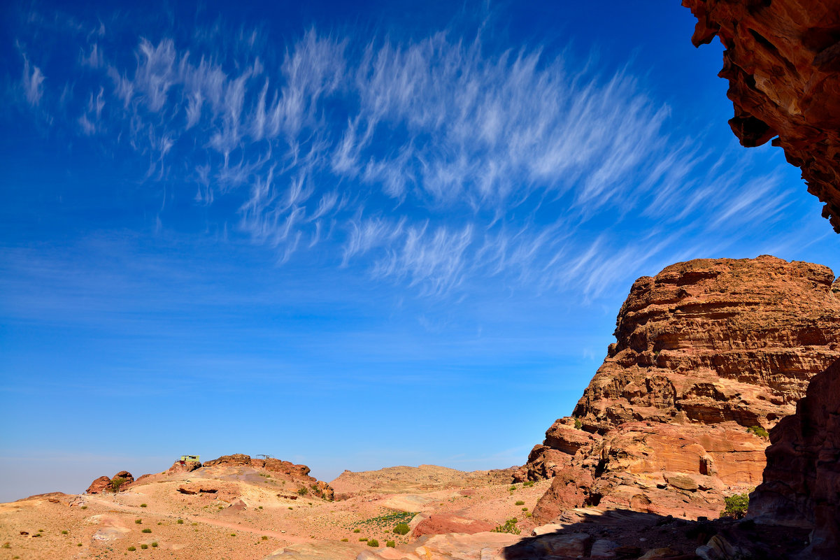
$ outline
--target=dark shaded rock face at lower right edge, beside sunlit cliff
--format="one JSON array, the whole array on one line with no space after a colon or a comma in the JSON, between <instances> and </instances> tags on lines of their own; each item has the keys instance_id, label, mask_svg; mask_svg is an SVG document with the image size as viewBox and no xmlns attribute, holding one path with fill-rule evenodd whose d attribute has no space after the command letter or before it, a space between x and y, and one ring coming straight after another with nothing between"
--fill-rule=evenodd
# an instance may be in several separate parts
<instances>
[{"instance_id":1,"label":"dark shaded rock face at lower right edge, beside sunlit cliff","mask_svg":"<svg viewBox=\"0 0 840 560\"><path fill-rule=\"evenodd\" d=\"M840 361L770 432L764 483L750 496L755 521L812 529L808 558L840 558Z\"/></svg>"}]
</instances>

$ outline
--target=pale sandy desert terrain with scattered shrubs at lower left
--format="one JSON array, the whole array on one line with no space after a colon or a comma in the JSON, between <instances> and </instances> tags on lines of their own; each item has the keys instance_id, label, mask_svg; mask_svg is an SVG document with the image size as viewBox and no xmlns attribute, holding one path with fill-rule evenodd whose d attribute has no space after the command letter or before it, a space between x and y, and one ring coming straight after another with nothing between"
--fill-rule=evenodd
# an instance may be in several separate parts
<instances>
[{"instance_id":1,"label":"pale sandy desert terrain with scattered shrubs at lower left","mask_svg":"<svg viewBox=\"0 0 840 560\"><path fill-rule=\"evenodd\" d=\"M334 543L335 557L354 557L370 550L361 538L377 539L383 551L389 540L407 544L413 540L410 534L391 532L397 522L413 519L415 526L428 514L442 512L494 525L516 516L527 535L533 523L522 508L533 509L549 484L511 489L511 484L486 484L501 478L487 472L394 469L342 474L349 482L337 486L345 495L360 495L332 502L297 495L299 485L293 481L245 465L155 474L118 495L34 496L0 505L0 542L8 542L0 547L0 560L134 555L252 560L316 542L322 545L319 553ZM197 493L183 494L179 488ZM129 547L136 550L129 552Z\"/></svg>"}]
</instances>

